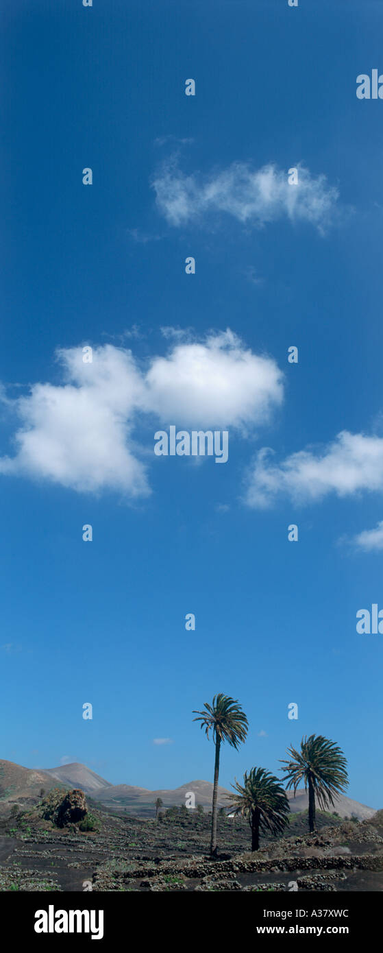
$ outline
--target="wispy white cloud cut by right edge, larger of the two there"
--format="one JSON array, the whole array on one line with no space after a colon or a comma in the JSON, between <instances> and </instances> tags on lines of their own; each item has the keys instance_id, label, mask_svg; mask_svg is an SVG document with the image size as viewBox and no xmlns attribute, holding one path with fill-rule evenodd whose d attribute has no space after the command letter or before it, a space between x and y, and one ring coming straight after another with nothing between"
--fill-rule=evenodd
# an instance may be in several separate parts
<instances>
[{"instance_id":1,"label":"wispy white cloud cut by right edge, larger of the two there","mask_svg":"<svg viewBox=\"0 0 383 953\"><path fill-rule=\"evenodd\" d=\"M383 438L342 431L322 451L302 450L282 463L272 451L259 452L247 480L245 499L252 507L272 504L285 495L294 502L320 500L331 493L346 497L363 490L383 490Z\"/></svg>"}]
</instances>

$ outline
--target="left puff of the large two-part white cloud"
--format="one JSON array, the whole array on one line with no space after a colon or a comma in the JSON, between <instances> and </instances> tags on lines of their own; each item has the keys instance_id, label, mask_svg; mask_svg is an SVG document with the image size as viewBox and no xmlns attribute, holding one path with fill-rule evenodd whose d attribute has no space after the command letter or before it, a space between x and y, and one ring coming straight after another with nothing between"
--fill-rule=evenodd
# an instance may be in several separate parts
<instances>
[{"instance_id":1,"label":"left puff of the large two-part white cloud","mask_svg":"<svg viewBox=\"0 0 383 953\"><path fill-rule=\"evenodd\" d=\"M81 348L58 356L65 383L35 384L16 401L17 454L0 459L0 473L46 477L79 491L147 494L144 466L129 445L143 391L130 353L106 345L91 364Z\"/></svg>"}]
</instances>

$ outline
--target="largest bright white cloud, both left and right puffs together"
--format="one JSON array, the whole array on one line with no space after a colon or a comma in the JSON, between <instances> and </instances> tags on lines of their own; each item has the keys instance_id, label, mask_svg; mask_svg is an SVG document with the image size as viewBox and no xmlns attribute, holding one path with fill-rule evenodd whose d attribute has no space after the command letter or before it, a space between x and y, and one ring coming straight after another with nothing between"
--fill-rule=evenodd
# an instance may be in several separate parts
<instances>
[{"instance_id":1,"label":"largest bright white cloud, both left and right puffs together","mask_svg":"<svg viewBox=\"0 0 383 953\"><path fill-rule=\"evenodd\" d=\"M283 397L272 358L253 355L230 331L176 343L166 357L154 356L148 370L111 344L95 348L92 363L83 362L82 348L57 356L62 382L34 384L13 402L20 427L15 456L0 458L2 474L145 496L150 487L140 456L153 444L149 438L144 446L141 434L153 416L167 428L253 426Z\"/></svg>"}]
</instances>

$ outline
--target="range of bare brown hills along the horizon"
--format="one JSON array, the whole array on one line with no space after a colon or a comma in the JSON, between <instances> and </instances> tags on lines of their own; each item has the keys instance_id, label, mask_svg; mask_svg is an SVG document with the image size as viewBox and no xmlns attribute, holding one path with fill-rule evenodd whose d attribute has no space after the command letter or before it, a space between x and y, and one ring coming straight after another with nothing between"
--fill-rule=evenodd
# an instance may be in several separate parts
<instances>
[{"instance_id":1,"label":"range of bare brown hills along the horizon","mask_svg":"<svg viewBox=\"0 0 383 953\"><path fill-rule=\"evenodd\" d=\"M203 807L212 806L211 781L188 781L173 790L161 788L151 791L146 787L137 787L132 784L111 784L105 778L91 771L85 764L73 762L62 764L57 768L24 768L12 761L0 760L0 806L12 801L29 801L38 799L42 788L50 791L52 787L78 787L88 794L93 801L99 801L109 808L131 809L133 813L152 814L152 806L157 798L161 798L166 807L186 803L188 792L195 797L195 804ZM229 795L229 799L226 797ZM309 796L305 791L298 790L294 798L292 791L287 792L292 813L305 811L309 807ZM225 787L218 787L218 804L228 808L232 792ZM355 815L360 821L372 818L375 813L373 807L360 804L341 795L334 798L331 811L336 811L339 817Z\"/></svg>"}]
</instances>

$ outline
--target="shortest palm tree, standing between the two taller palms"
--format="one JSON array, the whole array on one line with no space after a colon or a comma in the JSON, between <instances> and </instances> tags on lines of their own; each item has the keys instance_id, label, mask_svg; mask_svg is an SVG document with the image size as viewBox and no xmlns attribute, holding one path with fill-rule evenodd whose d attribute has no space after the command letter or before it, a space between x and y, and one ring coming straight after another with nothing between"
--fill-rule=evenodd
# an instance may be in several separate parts
<instances>
[{"instance_id":1,"label":"shortest palm tree, standing between the two taller palms","mask_svg":"<svg viewBox=\"0 0 383 953\"><path fill-rule=\"evenodd\" d=\"M234 814L249 818L252 828L252 850L259 850L259 829L279 834L289 823L290 811L286 791L278 778L265 768L252 768L243 776L243 785L232 784L238 794L232 795ZM229 797L229 795L228 795Z\"/></svg>"}]
</instances>

